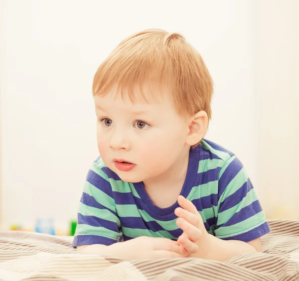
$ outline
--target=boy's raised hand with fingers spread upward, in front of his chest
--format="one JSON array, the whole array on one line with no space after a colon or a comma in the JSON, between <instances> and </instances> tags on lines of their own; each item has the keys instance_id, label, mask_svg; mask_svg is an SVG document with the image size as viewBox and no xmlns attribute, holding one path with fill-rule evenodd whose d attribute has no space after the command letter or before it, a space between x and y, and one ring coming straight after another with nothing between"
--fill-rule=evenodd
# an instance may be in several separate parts
<instances>
[{"instance_id":1,"label":"boy's raised hand with fingers spread upward, in front of his chest","mask_svg":"<svg viewBox=\"0 0 299 281\"><path fill-rule=\"evenodd\" d=\"M205 229L203 220L193 203L183 196L178 196L178 204L181 208L176 208L174 213L178 216L177 226L183 230L177 242L188 253L188 257L203 258L210 248L210 234Z\"/></svg>"}]
</instances>

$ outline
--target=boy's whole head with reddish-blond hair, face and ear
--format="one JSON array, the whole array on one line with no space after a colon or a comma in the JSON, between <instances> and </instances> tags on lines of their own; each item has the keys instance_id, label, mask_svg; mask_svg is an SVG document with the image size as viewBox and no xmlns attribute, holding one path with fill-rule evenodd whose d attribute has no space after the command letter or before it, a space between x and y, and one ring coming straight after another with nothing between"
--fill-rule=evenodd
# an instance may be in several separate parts
<instances>
[{"instance_id":1,"label":"boy's whole head with reddish-blond hair, face and ear","mask_svg":"<svg viewBox=\"0 0 299 281\"><path fill-rule=\"evenodd\" d=\"M131 182L174 170L206 133L212 93L201 56L181 35L149 29L128 37L93 82L105 164Z\"/></svg>"}]
</instances>

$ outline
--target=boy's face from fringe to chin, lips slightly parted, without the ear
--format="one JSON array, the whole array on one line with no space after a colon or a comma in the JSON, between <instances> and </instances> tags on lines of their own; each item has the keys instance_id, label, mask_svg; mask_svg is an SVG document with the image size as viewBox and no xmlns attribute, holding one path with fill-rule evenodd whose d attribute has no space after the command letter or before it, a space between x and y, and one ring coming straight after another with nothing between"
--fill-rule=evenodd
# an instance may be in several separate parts
<instances>
[{"instance_id":1,"label":"boy's face from fringe to chin, lips slightly parted, without the ear","mask_svg":"<svg viewBox=\"0 0 299 281\"><path fill-rule=\"evenodd\" d=\"M187 119L176 113L170 96L149 104L133 104L120 93L94 99L100 155L123 181L159 179L189 151Z\"/></svg>"}]
</instances>

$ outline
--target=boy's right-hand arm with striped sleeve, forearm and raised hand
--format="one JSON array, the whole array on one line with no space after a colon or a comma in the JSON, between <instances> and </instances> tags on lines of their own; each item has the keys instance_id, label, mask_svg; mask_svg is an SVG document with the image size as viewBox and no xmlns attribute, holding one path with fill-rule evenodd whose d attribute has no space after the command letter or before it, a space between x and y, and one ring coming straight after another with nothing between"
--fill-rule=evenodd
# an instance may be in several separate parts
<instances>
[{"instance_id":1,"label":"boy's right-hand arm with striped sleeve, forearm and raised hand","mask_svg":"<svg viewBox=\"0 0 299 281\"><path fill-rule=\"evenodd\" d=\"M176 210L181 218L177 225L184 232L178 242L190 254L207 259L223 260L258 251L261 242L257 239L270 228L251 181L235 155L224 163L218 178L215 237L207 233L192 202L179 196L178 202L183 209Z\"/></svg>"}]
</instances>

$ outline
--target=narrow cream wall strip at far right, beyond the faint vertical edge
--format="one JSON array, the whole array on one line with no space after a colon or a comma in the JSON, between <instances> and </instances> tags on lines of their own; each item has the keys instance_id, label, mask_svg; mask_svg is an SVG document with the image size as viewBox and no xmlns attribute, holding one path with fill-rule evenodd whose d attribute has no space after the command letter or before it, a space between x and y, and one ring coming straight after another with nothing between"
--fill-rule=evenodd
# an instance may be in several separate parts
<instances>
[{"instance_id":1,"label":"narrow cream wall strip at far right, beyond the faint vertical edge","mask_svg":"<svg viewBox=\"0 0 299 281\"><path fill-rule=\"evenodd\" d=\"M257 5L257 168L269 218L299 220L299 1Z\"/></svg>"}]
</instances>

